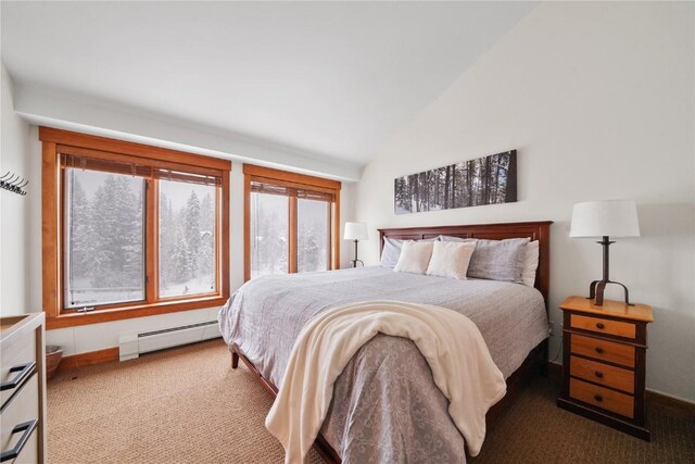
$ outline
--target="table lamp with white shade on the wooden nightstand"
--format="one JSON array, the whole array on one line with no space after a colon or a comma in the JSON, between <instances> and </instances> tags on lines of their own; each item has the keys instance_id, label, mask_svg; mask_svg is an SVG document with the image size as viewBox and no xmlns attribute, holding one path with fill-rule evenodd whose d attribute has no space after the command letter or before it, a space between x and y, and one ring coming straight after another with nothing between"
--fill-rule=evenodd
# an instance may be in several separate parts
<instances>
[{"instance_id":1,"label":"table lamp with white shade on the wooden nightstand","mask_svg":"<svg viewBox=\"0 0 695 464\"><path fill-rule=\"evenodd\" d=\"M606 285L616 284L626 291L626 304L630 304L628 287L609 277L609 247L615 241L609 237L639 237L637 208L632 200L605 200L577 203L572 210L570 237L603 237L597 241L604 248L604 277L594 280L589 287L589 298L595 299L594 304L604 304Z\"/></svg>"}]
</instances>

